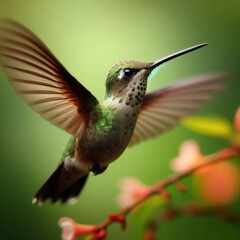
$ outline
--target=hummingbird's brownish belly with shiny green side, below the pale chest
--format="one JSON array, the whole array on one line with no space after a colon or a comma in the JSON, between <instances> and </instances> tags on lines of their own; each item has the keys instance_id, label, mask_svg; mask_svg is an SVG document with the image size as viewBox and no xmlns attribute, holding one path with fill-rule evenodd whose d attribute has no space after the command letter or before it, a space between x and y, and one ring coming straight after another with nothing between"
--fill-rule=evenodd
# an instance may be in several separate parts
<instances>
[{"instance_id":1,"label":"hummingbird's brownish belly with shiny green side, below the pale chest","mask_svg":"<svg viewBox=\"0 0 240 240\"><path fill-rule=\"evenodd\" d=\"M132 113L133 111L133 113ZM77 145L77 159L88 169L94 163L104 168L116 160L126 149L136 124L139 106L123 109L117 115L90 121Z\"/></svg>"}]
</instances>

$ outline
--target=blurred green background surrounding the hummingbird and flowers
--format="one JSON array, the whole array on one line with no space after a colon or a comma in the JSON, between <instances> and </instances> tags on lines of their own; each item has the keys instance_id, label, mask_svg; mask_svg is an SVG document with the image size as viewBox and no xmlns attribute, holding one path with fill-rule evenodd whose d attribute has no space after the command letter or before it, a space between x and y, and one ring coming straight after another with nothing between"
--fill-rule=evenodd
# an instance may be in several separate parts
<instances>
[{"instance_id":1,"label":"blurred green background surrounding the hummingbird and flowers","mask_svg":"<svg viewBox=\"0 0 240 240\"><path fill-rule=\"evenodd\" d=\"M240 102L240 1L177 0L0 0L0 17L20 21L51 49L81 83L102 99L108 70L120 60L152 61L202 42L210 45L162 67L149 89L195 74L227 71L227 88L199 115L232 119ZM118 210L118 182L136 176L153 184L171 173L170 160L185 139L196 139L204 153L225 142L177 127L141 143L108 170L91 177L77 205L31 205L36 190L59 161L68 135L33 112L14 93L0 69L0 239L60 239L62 216L99 223ZM189 193L190 194L190 193ZM179 195L179 194L178 194ZM177 194L172 201L178 201ZM190 194L191 195L191 194ZM186 196L188 199L190 196ZM110 227L108 239L134 239L131 217L125 233ZM240 239L238 229L211 217L182 217L164 225L159 239ZM136 238L135 238L136 239Z\"/></svg>"}]
</instances>

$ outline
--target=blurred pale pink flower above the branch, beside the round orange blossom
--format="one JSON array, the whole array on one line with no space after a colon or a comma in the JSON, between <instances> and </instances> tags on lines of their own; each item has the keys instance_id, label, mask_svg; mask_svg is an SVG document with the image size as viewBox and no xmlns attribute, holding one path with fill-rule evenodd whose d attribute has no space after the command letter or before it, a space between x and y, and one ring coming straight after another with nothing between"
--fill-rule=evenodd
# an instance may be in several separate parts
<instances>
[{"instance_id":1,"label":"blurred pale pink flower above the branch, beside the round orange blossom","mask_svg":"<svg viewBox=\"0 0 240 240\"><path fill-rule=\"evenodd\" d=\"M173 159L171 167L176 172L183 172L204 161L205 158L202 156L197 143L189 140L182 143L179 156Z\"/></svg>"}]
</instances>

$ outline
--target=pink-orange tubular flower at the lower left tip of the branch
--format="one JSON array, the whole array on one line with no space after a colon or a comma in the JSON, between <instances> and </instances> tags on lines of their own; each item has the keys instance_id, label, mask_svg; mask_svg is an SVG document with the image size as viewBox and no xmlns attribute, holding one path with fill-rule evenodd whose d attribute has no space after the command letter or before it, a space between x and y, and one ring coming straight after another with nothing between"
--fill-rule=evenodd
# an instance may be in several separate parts
<instances>
[{"instance_id":1,"label":"pink-orange tubular flower at the lower left tip of the branch","mask_svg":"<svg viewBox=\"0 0 240 240\"><path fill-rule=\"evenodd\" d=\"M62 240L75 240L76 237L85 234L97 233L95 225L78 224L71 218L61 218L58 225L62 228Z\"/></svg>"}]
</instances>

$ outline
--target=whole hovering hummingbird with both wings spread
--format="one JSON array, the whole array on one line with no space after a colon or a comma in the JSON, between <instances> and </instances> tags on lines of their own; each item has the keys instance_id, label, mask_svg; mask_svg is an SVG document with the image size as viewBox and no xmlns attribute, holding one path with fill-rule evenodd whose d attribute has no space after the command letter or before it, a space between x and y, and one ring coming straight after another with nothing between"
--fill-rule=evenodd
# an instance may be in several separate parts
<instances>
[{"instance_id":1,"label":"whole hovering hummingbird with both wings spread","mask_svg":"<svg viewBox=\"0 0 240 240\"><path fill-rule=\"evenodd\" d=\"M162 134L209 101L222 88L224 74L200 75L146 93L154 69L206 45L153 62L119 62L109 71L99 102L33 32L3 20L0 63L10 83L33 110L70 134L60 164L33 203L76 198L90 172L103 173L128 146Z\"/></svg>"}]
</instances>

